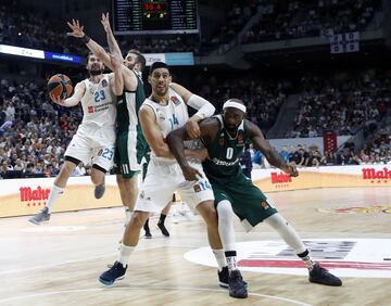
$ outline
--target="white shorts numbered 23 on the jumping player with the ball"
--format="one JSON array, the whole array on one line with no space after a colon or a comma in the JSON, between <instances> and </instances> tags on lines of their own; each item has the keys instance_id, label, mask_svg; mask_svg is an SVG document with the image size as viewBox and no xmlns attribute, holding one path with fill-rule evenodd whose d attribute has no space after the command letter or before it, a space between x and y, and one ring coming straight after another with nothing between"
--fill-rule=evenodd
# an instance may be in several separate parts
<instances>
[{"instance_id":1,"label":"white shorts numbered 23 on the jumping player with the ball","mask_svg":"<svg viewBox=\"0 0 391 306\"><path fill-rule=\"evenodd\" d=\"M109 171L114 163L115 127L91 128L83 124L72 138L65 156L74 157L85 165L96 164Z\"/></svg>"}]
</instances>

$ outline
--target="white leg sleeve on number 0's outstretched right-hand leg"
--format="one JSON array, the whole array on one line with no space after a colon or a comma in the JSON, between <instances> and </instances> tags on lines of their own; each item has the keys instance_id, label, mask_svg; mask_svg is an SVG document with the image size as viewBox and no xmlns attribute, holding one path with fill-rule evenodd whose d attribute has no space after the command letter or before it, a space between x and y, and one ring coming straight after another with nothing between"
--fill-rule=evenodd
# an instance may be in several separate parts
<instances>
[{"instance_id":1,"label":"white leg sleeve on number 0's outstretched right-hand leg","mask_svg":"<svg viewBox=\"0 0 391 306\"><path fill-rule=\"evenodd\" d=\"M306 250L298 232L279 213L265 219L265 222L278 231L283 241L291 246L297 254L301 254Z\"/></svg>"}]
</instances>

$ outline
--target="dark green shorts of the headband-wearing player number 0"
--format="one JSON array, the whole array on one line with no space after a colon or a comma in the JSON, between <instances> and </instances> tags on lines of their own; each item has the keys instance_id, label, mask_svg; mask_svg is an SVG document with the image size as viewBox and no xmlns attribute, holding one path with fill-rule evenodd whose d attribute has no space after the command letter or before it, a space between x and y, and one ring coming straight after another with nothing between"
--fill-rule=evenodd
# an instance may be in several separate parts
<instances>
[{"instance_id":1,"label":"dark green shorts of the headband-wearing player number 0","mask_svg":"<svg viewBox=\"0 0 391 306\"><path fill-rule=\"evenodd\" d=\"M247 231L278 213L265 194L241 171L229 182L211 181L211 184L216 199L215 205L228 200Z\"/></svg>"}]
</instances>

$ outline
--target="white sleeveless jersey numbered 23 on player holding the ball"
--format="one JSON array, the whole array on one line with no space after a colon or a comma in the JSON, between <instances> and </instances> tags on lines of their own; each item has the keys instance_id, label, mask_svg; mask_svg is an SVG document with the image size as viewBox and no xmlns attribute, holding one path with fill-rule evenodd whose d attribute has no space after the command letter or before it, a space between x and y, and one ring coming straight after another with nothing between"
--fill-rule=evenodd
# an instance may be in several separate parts
<instances>
[{"instance_id":1,"label":"white sleeveless jersey numbered 23 on player holding the ball","mask_svg":"<svg viewBox=\"0 0 391 306\"><path fill-rule=\"evenodd\" d=\"M109 74L99 82L85 79L85 94L81 98L83 122L85 126L114 126L116 119L116 97L110 86Z\"/></svg>"}]
</instances>

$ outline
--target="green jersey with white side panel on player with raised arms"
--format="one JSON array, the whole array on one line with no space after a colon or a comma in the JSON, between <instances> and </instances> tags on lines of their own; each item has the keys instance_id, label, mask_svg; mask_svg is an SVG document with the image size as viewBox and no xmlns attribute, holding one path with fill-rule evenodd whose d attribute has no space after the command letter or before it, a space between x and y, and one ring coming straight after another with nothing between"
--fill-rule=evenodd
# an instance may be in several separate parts
<instances>
[{"instance_id":1,"label":"green jersey with white side panel on player with raised arms","mask_svg":"<svg viewBox=\"0 0 391 306\"><path fill-rule=\"evenodd\" d=\"M133 73L135 73L133 71ZM141 77L137 77L137 88L135 91L125 90L123 95L118 97L117 103L117 132L136 130L141 127L138 124L138 111L146 100L143 84Z\"/></svg>"}]
</instances>

